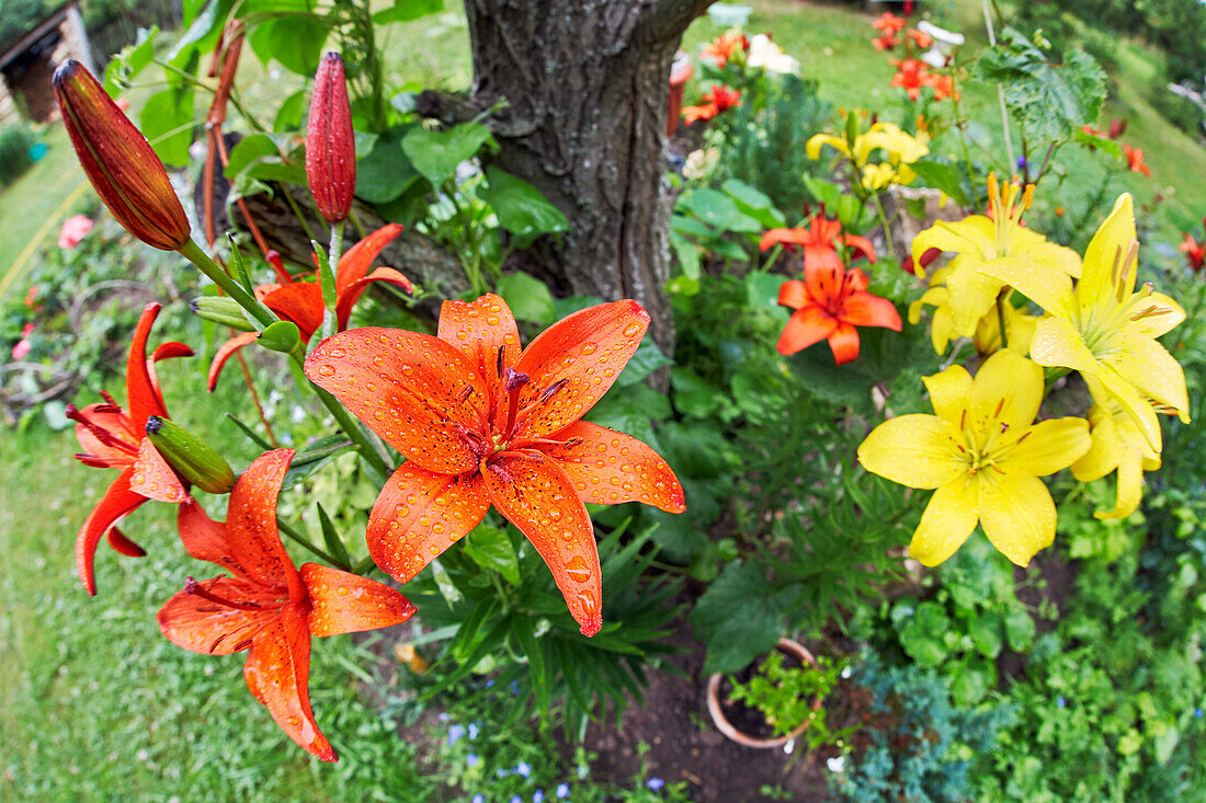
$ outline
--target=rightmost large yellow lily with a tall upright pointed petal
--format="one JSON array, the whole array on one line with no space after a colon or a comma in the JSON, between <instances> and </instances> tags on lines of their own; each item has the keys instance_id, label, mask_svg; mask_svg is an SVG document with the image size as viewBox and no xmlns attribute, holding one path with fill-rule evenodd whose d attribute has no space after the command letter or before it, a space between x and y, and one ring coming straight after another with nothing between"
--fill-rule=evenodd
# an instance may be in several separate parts
<instances>
[{"instance_id":1,"label":"rightmost large yellow lily with a tall upright pointed petal","mask_svg":"<svg viewBox=\"0 0 1206 803\"><path fill-rule=\"evenodd\" d=\"M1094 400L1106 406L1114 399L1159 451L1160 424L1148 399L1188 422L1189 397L1181 364L1155 339L1185 311L1151 285L1135 291L1137 266L1135 203L1124 194L1084 252L1075 291L1066 276L1035 265L999 265L994 274L1047 311L1035 329L1034 361L1096 379L1089 385Z\"/></svg>"}]
</instances>

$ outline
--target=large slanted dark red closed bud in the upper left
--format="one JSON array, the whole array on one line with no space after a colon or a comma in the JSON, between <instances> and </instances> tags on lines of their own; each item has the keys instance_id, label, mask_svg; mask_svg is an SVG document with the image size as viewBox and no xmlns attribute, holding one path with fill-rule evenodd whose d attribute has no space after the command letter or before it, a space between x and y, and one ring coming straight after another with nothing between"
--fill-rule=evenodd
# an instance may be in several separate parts
<instances>
[{"instance_id":1,"label":"large slanted dark red closed bud in the upper left","mask_svg":"<svg viewBox=\"0 0 1206 803\"><path fill-rule=\"evenodd\" d=\"M117 222L162 251L188 242L185 207L142 133L75 59L54 71L52 83L80 164Z\"/></svg>"}]
</instances>

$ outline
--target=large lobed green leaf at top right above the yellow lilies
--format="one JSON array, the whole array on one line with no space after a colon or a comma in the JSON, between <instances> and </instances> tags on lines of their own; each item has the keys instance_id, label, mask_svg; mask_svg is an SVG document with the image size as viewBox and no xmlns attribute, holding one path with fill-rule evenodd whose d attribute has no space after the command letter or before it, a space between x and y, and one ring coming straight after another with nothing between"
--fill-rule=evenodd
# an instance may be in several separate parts
<instances>
[{"instance_id":1,"label":"large lobed green leaf at top right above the yellow lilies","mask_svg":"<svg viewBox=\"0 0 1206 803\"><path fill-rule=\"evenodd\" d=\"M1019 31L1006 29L976 63L977 75L1005 87L1009 111L1031 143L1059 142L1094 123L1106 99L1106 76L1091 55L1070 49L1055 65Z\"/></svg>"}]
</instances>

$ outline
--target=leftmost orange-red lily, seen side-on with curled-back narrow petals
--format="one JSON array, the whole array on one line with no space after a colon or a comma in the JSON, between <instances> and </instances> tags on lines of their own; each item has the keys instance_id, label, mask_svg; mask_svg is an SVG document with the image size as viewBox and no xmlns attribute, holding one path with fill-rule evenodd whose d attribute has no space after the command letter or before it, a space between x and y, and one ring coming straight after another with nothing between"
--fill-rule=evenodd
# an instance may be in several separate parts
<instances>
[{"instance_id":1,"label":"leftmost orange-red lily, seen side-on with curled-back narrow petals","mask_svg":"<svg viewBox=\"0 0 1206 803\"><path fill-rule=\"evenodd\" d=\"M181 503L189 499L188 491L168 461L146 436L150 416L168 417L154 364L169 357L192 357L193 350L182 342L165 342L147 359L147 338L159 315L158 304L147 304L134 328L134 340L125 362L125 397L129 412L122 410L113 397L101 391L104 402L89 404L83 410L68 405L66 416L76 422L76 438L83 452L76 459L93 468L119 468L105 496L101 497L76 537L76 569L89 594L96 594L93 559L96 545L107 537L109 545L122 555L141 557L146 552L117 528L117 522L147 499Z\"/></svg>"}]
</instances>

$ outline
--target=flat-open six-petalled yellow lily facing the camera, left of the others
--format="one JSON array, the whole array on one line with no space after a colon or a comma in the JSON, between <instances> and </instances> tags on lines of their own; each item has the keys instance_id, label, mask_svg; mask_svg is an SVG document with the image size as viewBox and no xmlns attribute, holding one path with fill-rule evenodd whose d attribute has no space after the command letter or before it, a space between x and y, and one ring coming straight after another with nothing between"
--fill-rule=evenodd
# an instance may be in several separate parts
<instances>
[{"instance_id":1,"label":"flat-open six-petalled yellow lily facing the camera, left of the others","mask_svg":"<svg viewBox=\"0 0 1206 803\"><path fill-rule=\"evenodd\" d=\"M909 556L937 565L979 523L1018 565L1055 540L1055 504L1040 476L1089 450L1083 418L1034 423L1043 371L1012 350L989 357L976 379L960 365L925 377L937 415L907 415L876 427L859 462L913 488L935 488Z\"/></svg>"}]
</instances>

